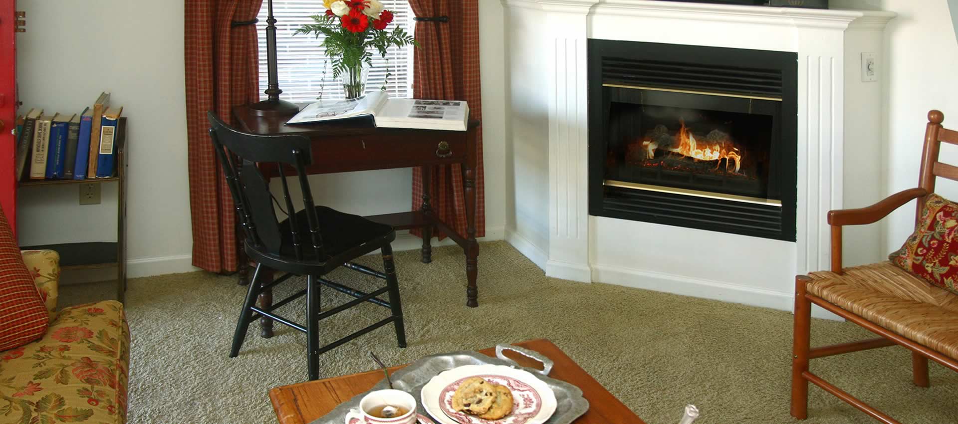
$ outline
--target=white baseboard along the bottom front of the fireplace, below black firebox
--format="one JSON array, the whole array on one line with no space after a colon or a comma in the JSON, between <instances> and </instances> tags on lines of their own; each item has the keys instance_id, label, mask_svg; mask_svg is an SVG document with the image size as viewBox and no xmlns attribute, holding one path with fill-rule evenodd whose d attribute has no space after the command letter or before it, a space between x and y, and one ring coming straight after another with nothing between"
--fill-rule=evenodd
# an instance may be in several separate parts
<instances>
[{"instance_id":1,"label":"white baseboard along the bottom front of the fireplace, below black firebox","mask_svg":"<svg viewBox=\"0 0 958 424\"><path fill-rule=\"evenodd\" d=\"M788 312L791 312L794 308L795 294L791 292L779 292L723 281L694 279L612 265L593 264L592 280L682 296L761 306ZM815 318L827 320L842 320L837 315L817 306L812 308L811 315Z\"/></svg>"}]
</instances>

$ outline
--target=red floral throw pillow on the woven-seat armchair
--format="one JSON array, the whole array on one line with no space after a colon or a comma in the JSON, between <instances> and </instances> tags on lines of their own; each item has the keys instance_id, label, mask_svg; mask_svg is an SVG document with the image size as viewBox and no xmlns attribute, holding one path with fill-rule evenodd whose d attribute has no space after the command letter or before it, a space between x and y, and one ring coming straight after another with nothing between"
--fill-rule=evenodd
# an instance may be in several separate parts
<instances>
[{"instance_id":1,"label":"red floral throw pillow on the woven-seat armchair","mask_svg":"<svg viewBox=\"0 0 958 424\"><path fill-rule=\"evenodd\" d=\"M888 256L901 269L958 294L958 205L928 195L915 233Z\"/></svg>"}]
</instances>

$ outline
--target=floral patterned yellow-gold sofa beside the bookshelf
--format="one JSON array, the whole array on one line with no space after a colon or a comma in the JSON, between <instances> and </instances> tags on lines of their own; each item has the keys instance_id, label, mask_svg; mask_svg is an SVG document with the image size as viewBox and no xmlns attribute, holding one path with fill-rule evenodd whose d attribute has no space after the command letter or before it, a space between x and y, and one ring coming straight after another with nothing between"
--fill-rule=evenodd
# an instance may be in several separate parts
<instances>
[{"instance_id":1,"label":"floral patterned yellow-gold sofa beside the bookshelf","mask_svg":"<svg viewBox=\"0 0 958 424\"><path fill-rule=\"evenodd\" d=\"M42 339L0 352L0 422L126 422L129 327L123 303L100 301L57 313L59 256L23 251L50 311Z\"/></svg>"}]
</instances>

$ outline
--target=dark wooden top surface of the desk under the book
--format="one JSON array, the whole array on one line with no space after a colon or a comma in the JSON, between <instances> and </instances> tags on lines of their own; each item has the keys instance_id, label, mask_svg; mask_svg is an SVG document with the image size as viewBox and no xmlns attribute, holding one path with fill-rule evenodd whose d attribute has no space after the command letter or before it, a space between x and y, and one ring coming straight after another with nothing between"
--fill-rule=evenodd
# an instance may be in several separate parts
<instances>
[{"instance_id":1,"label":"dark wooden top surface of the desk under the book","mask_svg":"<svg viewBox=\"0 0 958 424\"><path fill-rule=\"evenodd\" d=\"M301 107L307 103L298 103ZM412 129L412 128L376 128L372 120L368 117L347 118L344 120L329 121L325 123L308 123L302 125L286 125L292 116L262 117L254 115L249 105L242 104L233 108L233 116L236 117L239 129L261 135L280 135L280 134L299 134L308 137L314 136L341 136L358 134L375 134L382 132L420 132L420 131L442 131L462 133L463 131L445 131L436 129ZM478 120L469 120L469 129L479 126Z\"/></svg>"}]
</instances>

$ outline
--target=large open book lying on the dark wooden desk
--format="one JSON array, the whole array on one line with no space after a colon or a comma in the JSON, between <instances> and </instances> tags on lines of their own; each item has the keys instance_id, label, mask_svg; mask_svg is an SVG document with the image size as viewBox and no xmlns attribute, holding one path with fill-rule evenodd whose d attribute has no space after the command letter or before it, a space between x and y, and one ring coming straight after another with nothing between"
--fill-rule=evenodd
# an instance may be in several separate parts
<instances>
[{"instance_id":1,"label":"large open book lying on the dark wooden desk","mask_svg":"<svg viewBox=\"0 0 958 424\"><path fill-rule=\"evenodd\" d=\"M310 103L286 121L287 125L322 123L371 116L376 126L389 128L466 131L469 106L462 100L389 99L384 91L354 100Z\"/></svg>"}]
</instances>

